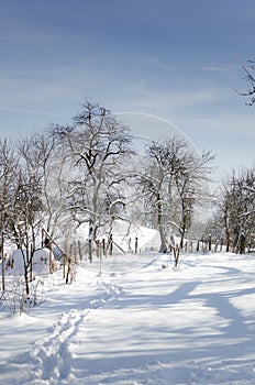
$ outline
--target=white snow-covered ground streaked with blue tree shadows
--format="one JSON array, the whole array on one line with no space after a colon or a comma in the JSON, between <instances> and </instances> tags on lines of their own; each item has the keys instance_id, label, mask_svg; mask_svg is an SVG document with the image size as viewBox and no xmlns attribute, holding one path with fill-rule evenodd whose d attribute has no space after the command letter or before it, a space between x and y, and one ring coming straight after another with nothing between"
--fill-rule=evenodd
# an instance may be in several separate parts
<instances>
[{"instance_id":1,"label":"white snow-covered ground streaked with blue tree shadows","mask_svg":"<svg viewBox=\"0 0 255 385\"><path fill-rule=\"evenodd\" d=\"M163 266L165 266L163 268ZM0 384L255 384L255 256L118 254L0 309Z\"/></svg>"}]
</instances>

